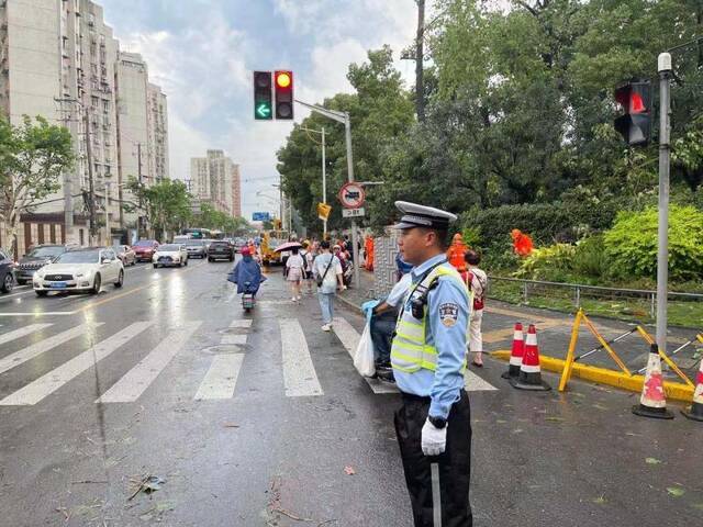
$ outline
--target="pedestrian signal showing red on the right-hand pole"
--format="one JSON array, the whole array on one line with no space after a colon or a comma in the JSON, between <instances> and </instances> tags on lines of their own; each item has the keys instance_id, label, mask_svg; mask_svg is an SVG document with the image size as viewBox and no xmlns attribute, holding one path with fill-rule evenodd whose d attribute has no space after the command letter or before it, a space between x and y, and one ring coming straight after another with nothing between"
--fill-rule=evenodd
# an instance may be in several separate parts
<instances>
[{"instance_id":1,"label":"pedestrian signal showing red on the right-hand pole","mask_svg":"<svg viewBox=\"0 0 703 527\"><path fill-rule=\"evenodd\" d=\"M633 80L615 90L615 100L625 110L625 114L615 120L615 130L631 146L649 143L651 83L648 80Z\"/></svg>"}]
</instances>

